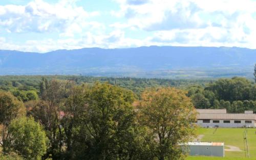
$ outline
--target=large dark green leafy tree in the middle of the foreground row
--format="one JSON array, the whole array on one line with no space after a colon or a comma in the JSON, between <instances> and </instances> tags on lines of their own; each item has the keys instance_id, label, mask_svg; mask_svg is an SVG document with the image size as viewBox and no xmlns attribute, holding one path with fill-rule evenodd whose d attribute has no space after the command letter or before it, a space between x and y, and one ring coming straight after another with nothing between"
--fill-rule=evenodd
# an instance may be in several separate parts
<instances>
[{"instance_id":1,"label":"large dark green leafy tree in the middle of the foreground row","mask_svg":"<svg viewBox=\"0 0 256 160\"><path fill-rule=\"evenodd\" d=\"M74 136L74 159L136 159L133 93L96 83L84 96L84 112Z\"/></svg>"}]
</instances>

